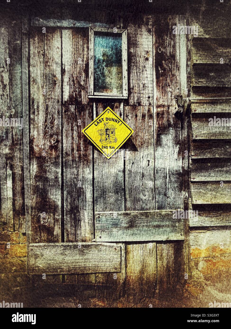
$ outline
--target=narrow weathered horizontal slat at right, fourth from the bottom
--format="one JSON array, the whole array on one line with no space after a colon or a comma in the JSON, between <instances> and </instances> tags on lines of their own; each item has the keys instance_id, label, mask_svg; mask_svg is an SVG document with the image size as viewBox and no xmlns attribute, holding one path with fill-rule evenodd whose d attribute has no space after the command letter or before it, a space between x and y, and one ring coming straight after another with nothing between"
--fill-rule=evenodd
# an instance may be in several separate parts
<instances>
[{"instance_id":1,"label":"narrow weathered horizontal slat at right, fourth from the bottom","mask_svg":"<svg viewBox=\"0 0 231 329\"><path fill-rule=\"evenodd\" d=\"M190 148L192 159L231 158L231 143L228 142L191 141Z\"/></svg>"}]
</instances>

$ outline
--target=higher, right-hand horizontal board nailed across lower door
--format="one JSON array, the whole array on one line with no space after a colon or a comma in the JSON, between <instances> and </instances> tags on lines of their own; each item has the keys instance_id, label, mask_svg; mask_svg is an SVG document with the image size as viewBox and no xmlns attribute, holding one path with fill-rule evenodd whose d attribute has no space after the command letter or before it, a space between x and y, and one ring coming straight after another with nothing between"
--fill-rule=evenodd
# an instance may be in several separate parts
<instances>
[{"instance_id":1,"label":"higher, right-hand horizontal board nailed across lower door","mask_svg":"<svg viewBox=\"0 0 231 329\"><path fill-rule=\"evenodd\" d=\"M125 211L95 214L96 241L184 240L184 221L173 210Z\"/></svg>"}]
</instances>

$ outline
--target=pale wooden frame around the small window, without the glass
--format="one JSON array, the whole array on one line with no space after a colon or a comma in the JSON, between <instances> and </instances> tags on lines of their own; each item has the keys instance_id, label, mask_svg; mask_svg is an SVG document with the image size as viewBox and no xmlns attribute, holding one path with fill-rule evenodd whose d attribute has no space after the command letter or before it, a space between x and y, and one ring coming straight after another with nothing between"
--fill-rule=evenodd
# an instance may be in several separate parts
<instances>
[{"instance_id":1,"label":"pale wooden frame around the small window, without the glass","mask_svg":"<svg viewBox=\"0 0 231 329\"><path fill-rule=\"evenodd\" d=\"M113 33L114 29L89 27L89 98L128 98L128 47L127 30L117 29L117 34L122 35L122 94L109 94L94 92L94 32Z\"/></svg>"}]
</instances>

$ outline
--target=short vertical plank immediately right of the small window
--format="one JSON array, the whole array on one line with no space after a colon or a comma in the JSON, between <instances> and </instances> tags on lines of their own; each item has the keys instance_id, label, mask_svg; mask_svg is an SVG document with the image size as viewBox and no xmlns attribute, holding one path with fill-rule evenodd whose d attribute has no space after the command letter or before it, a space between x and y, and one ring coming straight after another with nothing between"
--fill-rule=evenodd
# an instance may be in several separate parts
<instances>
[{"instance_id":1,"label":"short vertical plank immediately right of the small window","mask_svg":"<svg viewBox=\"0 0 231 329\"><path fill-rule=\"evenodd\" d=\"M128 28L128 105L153 105L152 16L124 18Z\"/></svg>"}]
</instances>

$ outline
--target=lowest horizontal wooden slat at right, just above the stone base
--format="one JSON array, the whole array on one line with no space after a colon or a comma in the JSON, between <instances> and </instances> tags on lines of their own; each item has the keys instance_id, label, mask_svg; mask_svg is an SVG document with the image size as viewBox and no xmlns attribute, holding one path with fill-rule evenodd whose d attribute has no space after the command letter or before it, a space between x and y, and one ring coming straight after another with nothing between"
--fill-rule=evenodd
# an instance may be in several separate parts
<instances>
[{"instance_id":1,"label":"lowest horizontal wooden slat at right, just above the stone base","mask_svg":"<svg viewBox=\"0 0 231 329\"><path fill-rule=\"evenodd\" d=\"M198 216L189 219L193 226L227 226L231 225L230 211L198 211Z\"/></svg>"}]
</instances>

